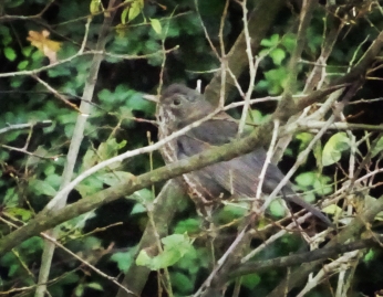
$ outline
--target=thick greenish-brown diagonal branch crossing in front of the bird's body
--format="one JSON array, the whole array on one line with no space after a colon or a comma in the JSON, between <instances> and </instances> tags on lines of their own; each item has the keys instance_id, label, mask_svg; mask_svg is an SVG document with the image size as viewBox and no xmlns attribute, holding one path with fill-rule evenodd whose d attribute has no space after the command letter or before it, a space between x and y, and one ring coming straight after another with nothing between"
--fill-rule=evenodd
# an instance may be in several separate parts
<instances>
[{"instance_id":1,"label":"thick greenish-brown diagonal branch crossing in front of the bird's body","mask_svg":"<svg viewBox=\"0 0 383 297\"><path fill-rule=\"evenodd\" d=\"M380 42L380 45L382 45L382 42ZM374 47L376 46L377 45L375 44ZM371 54L369 54L368 56L370 55ZM335 85L324 91L321 89L313 92L311 95L306 97L306 99L315 98L315 100L324 100L327 95L341 87L343 86ZM304 108L306 106L298 105L297 108L299 107ZM167 167L163 167L152 172L144 173L137 178L131 178L123 184L117 184L94 195L84 198L83 200L69 205L63 210L54 212L54 214L46 211L40 213L35 219L29 222L28 225L14 231L13 233L0 240L0 254L8 252L10 248L14 247L29 237L38 235L40 232L43 232L50 227L73 219L82 213L89 212L100 205L117 200L123 195L130 195L133 192L145 187L149 187L155 182L168 180L183 173L187 173L193 170L204 168L208 165L213 165L215 162L230 160L232 158L252 151L256 147L266 146L271 137L272 128L272 123L268 121L260 126L258 129L255 129L248 137L240 139L235 144L228 144L218 148L211 148L192 158L174 162Z\"/></svg>"}]
</instances>

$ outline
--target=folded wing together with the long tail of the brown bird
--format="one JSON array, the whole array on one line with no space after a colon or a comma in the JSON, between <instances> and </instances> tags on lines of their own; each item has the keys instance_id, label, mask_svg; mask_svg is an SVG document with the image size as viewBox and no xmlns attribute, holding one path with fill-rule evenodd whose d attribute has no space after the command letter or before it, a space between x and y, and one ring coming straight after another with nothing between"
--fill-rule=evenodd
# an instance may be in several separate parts
<instances>
[{"instance_id":1,"label":"folded wing together with the long tail of the brown bird","mask_svg":"<svg viewBox=\"0 0 383 297\"><path fill-rule=\"evenodd\" d=\"M211 123L214 125L211 125ZM193 129L190 134L178 138L179 151L182 153L182 156L179 156L180 158L190 157L205 151L209 149L211 145L219 146L230 142L237 135L237 124L230 121L222 123L221 120L211 120L207 121L203 128L204 129ZM229 137L219 134L220 131L227 132ZM230 136L232 136L232 138L230 138ZM239 156L229 161L208 166L198 170L198 173L203 174L206 179L216 181L230 193L235 193L239 197L253 198L256 197L259 174L265 161L266 150L263 148L257 148L250 153ZM262 192L271 193L283 178L284 174L280 169L269 163L262 183ZM328 225L332 225L331 221L324 214L297 195L290 182L283 187L281 194L287 201L304 208Z\"/></svg>"}]
</instances>

